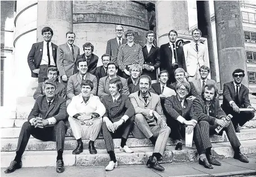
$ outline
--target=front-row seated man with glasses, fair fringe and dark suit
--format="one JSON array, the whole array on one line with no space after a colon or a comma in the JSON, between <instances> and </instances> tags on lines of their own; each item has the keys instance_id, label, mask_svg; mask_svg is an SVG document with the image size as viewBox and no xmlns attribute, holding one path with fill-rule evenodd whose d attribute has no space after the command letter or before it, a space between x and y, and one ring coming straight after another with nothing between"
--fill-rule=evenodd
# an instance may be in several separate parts
<instances>
[{"instance_id":1,"label":"front-row seated man with glasses, fair fringe and dark suit","mask_svg":"<svg viewBox=\"0 0 256 177\"><path fill-rule=\"evenodd\" d=\"M171 138L176 143L175 150L182 150L182 139L187 127L188 132L193 131L193 140L199 155L199 164L204 165L207 169L213 169L205 155L201 129L197 124L197 117L194 114L193 101L185 99L189 89L188 81L180 81L176 85L178 94L165 99L166 122L171 128Z\"/></svg>"}]
</instances>

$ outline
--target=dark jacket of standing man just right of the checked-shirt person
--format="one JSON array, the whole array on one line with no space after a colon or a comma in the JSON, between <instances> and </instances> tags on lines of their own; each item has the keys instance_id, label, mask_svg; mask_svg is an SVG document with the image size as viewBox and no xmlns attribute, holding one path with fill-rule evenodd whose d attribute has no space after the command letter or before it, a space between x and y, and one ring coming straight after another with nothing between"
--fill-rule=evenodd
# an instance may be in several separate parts
<instances>
[{"instance_id":1,"label":"dark jacket of standing man just right of the checked-shirt person","mask_svg":"<svg viewBox=\"0 0 256 177\"><path fill-rule=\"evenodd\" d=\"M151 77L152 80L156 80L156 71L160 66L160 55L158 55L159 47L152 46L149 53L147 49L147 45L142 48L143 57L144 57L144 64L149 66L154 66L155 69L153 71L148 71L146 69L142 70L142 75L148 75Z\"/></svg>"}]
</instances>

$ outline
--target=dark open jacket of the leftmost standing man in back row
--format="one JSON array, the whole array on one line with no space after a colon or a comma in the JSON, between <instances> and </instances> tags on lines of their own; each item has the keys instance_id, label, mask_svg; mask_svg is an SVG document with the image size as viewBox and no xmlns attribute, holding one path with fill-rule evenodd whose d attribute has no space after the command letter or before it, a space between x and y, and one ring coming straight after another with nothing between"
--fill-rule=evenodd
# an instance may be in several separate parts
<instances>
[{"instance_id":1,"label":"dark open jacket of the leftmost standing man in back row","mask_svg":"<svg viewBox=\"0 0 256 177\"><path fill-rule=\"evenodd\" d=\"M51 43L51 48L52 48L52 56L54 57L54 62L56 65L58 46L56 46L54 43ZM38 74L34 73L33 70L39 68L42 61L42 56L43 56L43 42L34 43L28 54L28 66L31 70L31 76L33 78L38 78Z\"/></svg>"}]
</instances>

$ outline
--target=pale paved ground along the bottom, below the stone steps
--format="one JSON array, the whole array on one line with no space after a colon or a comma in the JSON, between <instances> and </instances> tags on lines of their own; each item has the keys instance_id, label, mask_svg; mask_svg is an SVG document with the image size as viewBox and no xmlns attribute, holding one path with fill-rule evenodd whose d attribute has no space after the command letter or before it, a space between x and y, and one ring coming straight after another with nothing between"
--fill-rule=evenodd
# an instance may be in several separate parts
<instances>
[{"instance_id":1,"label":"pale paved ground along the bottom, below the stone steps","mask_svg":"<svg viewBox=\"0 0 256 177\"><path fill-rule=\"evenodd\" d=\"M109 176L109 177L181 177L181 176L255 176L256 175L256 154L249 156L250 163L245 164L233 158L220 160L222 166L214 166L214 169L205 169L198 162L180 163L180 164L163 164L165 171L156 171L149 169L145 165L127 165L118 166L113 171L105 171L104 166L79 166L66 167L64 173L58 174L55 167L23 167L14 173L5 174L4 168L1 168L1 176L8 177L71 177L71 176Z\"/></svg>"}]
</instances>

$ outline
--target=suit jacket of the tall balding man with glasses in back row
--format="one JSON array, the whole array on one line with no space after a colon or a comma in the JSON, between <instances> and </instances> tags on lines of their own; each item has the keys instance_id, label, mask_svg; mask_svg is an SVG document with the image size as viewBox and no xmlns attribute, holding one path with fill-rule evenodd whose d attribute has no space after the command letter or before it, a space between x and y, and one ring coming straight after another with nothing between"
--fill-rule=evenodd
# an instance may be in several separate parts
<instances>
[{"instance_id":1,"label":"suit jacket of the tall balding man with glasses in back row","mask_svg":"<svg viewBox=\"0 0 256 177\"><path fill-rule=\"evenodd\" d=\"M126 39L122 39L122 44L125 44L126 42L127 42ZM106 53L111 56L111 62L116 64L117 64L119 47L120 46L118 46L116 38L108 40Z\"/></svg>"}]
</instances>

